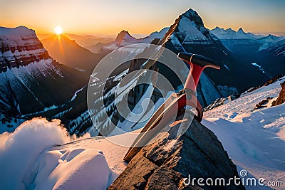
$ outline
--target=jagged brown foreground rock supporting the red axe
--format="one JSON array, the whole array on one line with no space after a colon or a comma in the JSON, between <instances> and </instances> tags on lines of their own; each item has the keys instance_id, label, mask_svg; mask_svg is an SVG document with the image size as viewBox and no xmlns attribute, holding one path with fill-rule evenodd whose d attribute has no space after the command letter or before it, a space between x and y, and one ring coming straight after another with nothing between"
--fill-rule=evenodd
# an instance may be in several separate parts
<instances>
[{"instance_id":1,"label":"jagged brown foreground rock supporting the red axe","mask_svg":"<svg viewBox=\"0 0 285 190\"><path fill-rule=\"evenodd\" d=\"M189 125L188 125L189 126ZM244 189L243 186L198 186L197 179L238 176L237 167L229 159L213 132L192 122L180 137L175 137L175 125L170 132L159 134L157 142L143 147L128 164L111 189ZM185 178L194 179L187 186ZM205 181L204 181L205 183Z\"/></svg>"}]
</instances>

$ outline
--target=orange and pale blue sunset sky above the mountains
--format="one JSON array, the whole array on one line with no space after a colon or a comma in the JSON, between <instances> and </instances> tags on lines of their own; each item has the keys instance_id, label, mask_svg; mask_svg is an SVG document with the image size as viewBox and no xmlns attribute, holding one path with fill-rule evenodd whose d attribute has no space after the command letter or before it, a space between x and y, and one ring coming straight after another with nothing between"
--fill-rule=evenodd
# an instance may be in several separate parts
<instances>
[{"instance_id":1,"label":"orange and pale blue sunset sky above the mountains","mask_svg":"<svg viewBox=\"0 0 285 190\"><path fill-rule=\"evenodd\" d=\"M51 33L149 34L194 9L207 28L285 35L284 0L0 0L0 26Z\"/></svg>"}]
</instances>

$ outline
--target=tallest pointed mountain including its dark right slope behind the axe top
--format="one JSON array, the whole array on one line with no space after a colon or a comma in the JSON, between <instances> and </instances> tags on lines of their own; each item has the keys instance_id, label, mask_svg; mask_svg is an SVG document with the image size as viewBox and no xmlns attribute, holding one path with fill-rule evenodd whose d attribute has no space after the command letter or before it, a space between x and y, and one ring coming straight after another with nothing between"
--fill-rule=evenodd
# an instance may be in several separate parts
<instances>
[{"instance_id":1,"label":"tallest pointed mountain including its dark right slope behind the axe top","mask_svg":"<svg viewBox=\"0 0 285 190\"><path fill-rule=\"evenodd\" d=\"M250 63L244 63L236 58L217 36L204 27L201 17L192 9L181 15L178 27L165 47L175 53L197 53L216 60L221 70L206 69L204 73L215 85L221 85L221 88L234 87L242 92L251 86L265 83L266 79L269 79Z\"/></svg>"}]
</instances>

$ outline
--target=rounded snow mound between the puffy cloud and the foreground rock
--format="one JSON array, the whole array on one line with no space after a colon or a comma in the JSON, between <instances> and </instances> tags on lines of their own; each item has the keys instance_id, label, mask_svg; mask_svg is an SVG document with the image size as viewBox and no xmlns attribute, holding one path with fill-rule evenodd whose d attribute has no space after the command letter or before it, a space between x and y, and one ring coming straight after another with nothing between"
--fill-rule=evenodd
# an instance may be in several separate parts
<instances>
[{"instance_id":1,"label":"rounded snow mound between the puffy cloud and the foreground rock","mask_svg":"<svg viewBox=\"0 0 285 190\"><path fill-rule=\"evenodd\" d=\"M106 189L125 169L127 150L103 137L51 147L38 155L25 182L31 189Z\"/></svg>"}]
</instances>

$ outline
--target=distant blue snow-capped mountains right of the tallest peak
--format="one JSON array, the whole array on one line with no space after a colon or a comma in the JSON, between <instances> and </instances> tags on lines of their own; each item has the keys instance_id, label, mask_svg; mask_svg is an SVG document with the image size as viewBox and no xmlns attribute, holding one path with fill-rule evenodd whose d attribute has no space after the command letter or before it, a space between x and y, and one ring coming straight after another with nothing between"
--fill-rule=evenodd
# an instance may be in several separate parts
<instances>
[{"instance_id":1,"label":"distant blue snow-capped mountains right of the tallest peak","mask_svg":"<svg viewBox=\"0 0 285 190\"><path fill-rule=\"evenodd\" d=\"M264 72L265 78L284 73L284 37L255 35L245 33L242 29L233 31L231 28L214 28L212 31L233 56L242 58L243 63L257 63ZM262 80L262 79L260 79ZM263 81L264 82L264 81ZM260 85L260 84L259 84Z\"/></svg>"}]
</instances>

